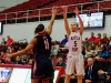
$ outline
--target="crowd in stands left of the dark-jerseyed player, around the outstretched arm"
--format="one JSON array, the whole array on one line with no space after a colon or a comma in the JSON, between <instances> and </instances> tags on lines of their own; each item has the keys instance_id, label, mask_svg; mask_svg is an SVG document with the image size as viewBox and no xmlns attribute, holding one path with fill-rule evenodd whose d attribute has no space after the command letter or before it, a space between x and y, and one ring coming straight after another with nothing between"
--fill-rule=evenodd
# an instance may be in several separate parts
<instances>
[{"instance_id":1,"label":"crowd in stands left of the dark-jerseyed player, around the outstretched arm","mask_svg":"<svg viewBox=\"0 0 111 83\"><path fill-rule=\"evenodd\" d=\"M2 38L0 43L0 64L32 64L33 52L29 52L26 55L7 58L7 53L13 53L24 49L28 45L28 42L14 42L14 40L8 35L7 40Z\"/></svg>"}]
</instances>

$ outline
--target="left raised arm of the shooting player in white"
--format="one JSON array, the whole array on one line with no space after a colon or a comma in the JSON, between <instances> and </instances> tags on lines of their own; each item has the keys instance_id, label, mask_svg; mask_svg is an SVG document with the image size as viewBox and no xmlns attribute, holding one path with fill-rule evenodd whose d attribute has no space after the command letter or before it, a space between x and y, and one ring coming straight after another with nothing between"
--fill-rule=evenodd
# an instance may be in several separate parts
<instances>
[{"instance_id":1,"label":"left raised arm of the shooting player in white","mask_svg":"<svg viewBox=\"0 0 111 83\"><path fill-rule=\"evenodd\" d=\"M64 18L64 28L65 28L67 35L69 35L71 31L67 20L67 7L63 6L62 9L63 9L63 18Z\"/></svg>"}]
</instances>

